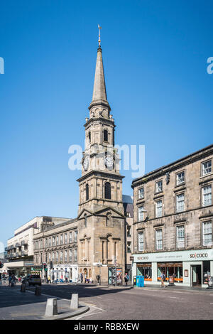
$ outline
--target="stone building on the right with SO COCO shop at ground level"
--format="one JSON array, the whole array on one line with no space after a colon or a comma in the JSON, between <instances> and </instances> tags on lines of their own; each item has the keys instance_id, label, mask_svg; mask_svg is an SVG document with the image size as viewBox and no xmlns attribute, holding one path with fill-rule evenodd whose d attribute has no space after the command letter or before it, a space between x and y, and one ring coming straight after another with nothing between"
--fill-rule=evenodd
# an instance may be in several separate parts
<instances>
[{"instance_id":1,"label":"stone building on the right with SO COCO shop at ground level","mask_svg":"<svg viewBox=\"0 0 213 334\"><path fill-rule=\"evenodd\" d=\"M210 145L133 181L133 275L185 286L213 276L212 158Z\"/></svg>"}]
</instances>

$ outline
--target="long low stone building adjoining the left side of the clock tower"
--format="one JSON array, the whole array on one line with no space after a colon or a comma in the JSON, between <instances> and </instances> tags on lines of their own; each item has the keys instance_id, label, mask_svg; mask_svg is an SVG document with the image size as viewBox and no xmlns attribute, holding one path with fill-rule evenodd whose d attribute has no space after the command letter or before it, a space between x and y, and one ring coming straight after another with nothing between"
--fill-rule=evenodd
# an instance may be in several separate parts
<instances>
[{"instance_id":1,"label":"long low stone building adjoining the left side of the clock tower","mask_svg":"<svg viewBox=\"0 0 213 334\"><path fill-rule=\"evenodd\" d=\"M53 263L51 268L50 262ZM42 266L43 264L43 266ZM55 281L78 281L77 220L67 220L47 226L34 236L34 269L42 271L42 278Z\"/></svg>"}]
</instances>

